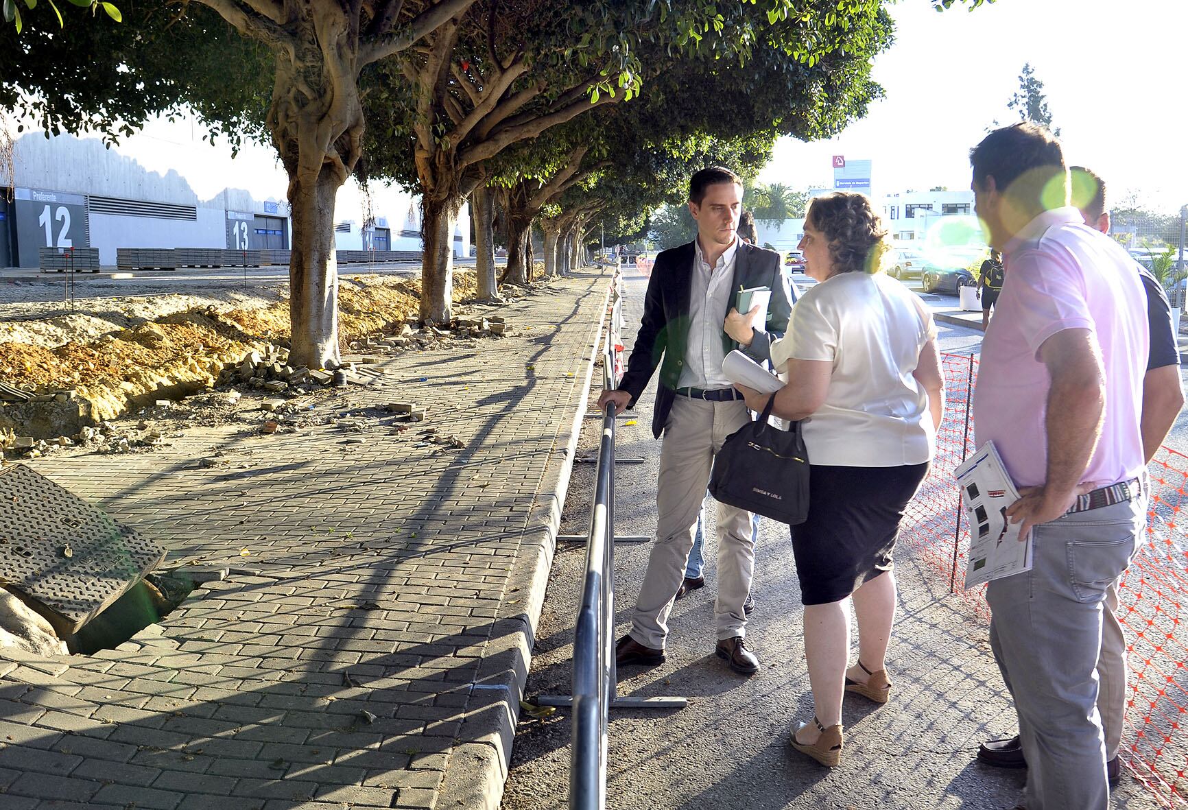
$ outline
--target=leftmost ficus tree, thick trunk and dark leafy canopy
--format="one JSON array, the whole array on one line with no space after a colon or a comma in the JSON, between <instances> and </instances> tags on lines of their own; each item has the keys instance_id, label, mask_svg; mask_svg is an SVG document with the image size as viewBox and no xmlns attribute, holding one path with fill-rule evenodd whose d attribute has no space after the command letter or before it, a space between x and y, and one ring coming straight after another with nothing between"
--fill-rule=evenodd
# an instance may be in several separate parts
<instances>
[{"instance_id":1,"label":"leftmost ficus tree, thick trunk and dark leafy canopy","mask_svg":"<svg viewBox=\"0 0 1188 810\"><path fill-rule=\"evenodd\" d=\"M126 134L188 103L213 132L270 139L289 175L291 356L336 367L334 203L362 153L360 75L475 1L194 0L171 10L125 0L114 29L51 36L42 27L2 43L0 67L19 71L6 74L0 100L13 99L46 131Z\"/></svg>"}]
</instances>

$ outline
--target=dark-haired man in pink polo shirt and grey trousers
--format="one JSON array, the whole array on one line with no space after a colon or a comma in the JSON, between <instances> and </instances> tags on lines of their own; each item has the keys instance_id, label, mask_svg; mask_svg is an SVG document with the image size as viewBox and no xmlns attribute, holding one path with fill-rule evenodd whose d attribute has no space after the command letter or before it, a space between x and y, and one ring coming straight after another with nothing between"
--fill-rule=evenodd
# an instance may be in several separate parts
<instances>
[{"instance_id":1,"label":"dark-haired man in pink polo shirt and grey trousers","mask_svg":"<svg viewBox=\"0 0 1188 810\"><path fill-rule=\"evenodd\" d=\"M1015 698L1028 810L1106 810L1095 703L1106 589L1145 519L1145 295L1130 257L1067 205L1043 127L997 129L971 152L978 216L1005 280L981 346L978 444L993 441L1032 533L1031 571L986 590L991 645Z\"/></svg>"}]
</instances>

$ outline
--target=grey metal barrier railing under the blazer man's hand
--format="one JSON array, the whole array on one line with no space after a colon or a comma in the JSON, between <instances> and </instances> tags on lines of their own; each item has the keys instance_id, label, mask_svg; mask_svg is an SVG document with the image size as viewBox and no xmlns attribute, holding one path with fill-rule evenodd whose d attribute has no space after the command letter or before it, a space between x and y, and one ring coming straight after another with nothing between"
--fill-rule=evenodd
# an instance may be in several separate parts
<instances>
[{"instance_id":1,"label":"grey metal barrier railing under the blazer man's hand","mask_svg":"<svg viewBox=\"0 0 1188 810\"><path fill-rule=\"evenodd\" d=\"M621 290L615 273L609 323L604 331L602 386L619 382ZM683 697L618 697L614 667L614 404L602 412L594 504L586 539L586 574L574 631L573 695L542 695L541 705L571 707L569 806L606 808L607 728L611 709L681 709Z\"/></svg>"}]
</instances>

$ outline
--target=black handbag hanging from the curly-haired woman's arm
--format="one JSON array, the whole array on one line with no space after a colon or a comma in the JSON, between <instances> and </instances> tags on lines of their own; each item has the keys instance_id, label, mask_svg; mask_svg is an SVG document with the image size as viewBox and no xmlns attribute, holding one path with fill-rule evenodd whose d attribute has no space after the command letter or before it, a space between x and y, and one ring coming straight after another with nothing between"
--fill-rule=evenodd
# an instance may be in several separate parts
<instances>
[{"instance_id":1,"label":"black handbag hanging from the curly-haired woman's arm","mask_svg":"<svg viewBox=\"0 0 1188 810\"><path fill-rule=\"evenodd\" d=\"M801 423L788 430L767 424L776 394L763 415L731 434L714 456L709 494L790 526L809 517L809 454Z\"/></svg>"}]
</instances>

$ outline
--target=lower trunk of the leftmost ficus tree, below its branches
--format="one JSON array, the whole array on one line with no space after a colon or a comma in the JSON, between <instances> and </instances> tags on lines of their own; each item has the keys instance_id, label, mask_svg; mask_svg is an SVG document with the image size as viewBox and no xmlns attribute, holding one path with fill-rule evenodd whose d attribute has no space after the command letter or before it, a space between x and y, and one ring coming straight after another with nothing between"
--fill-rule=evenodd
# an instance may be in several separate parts
<instances>
[{"instance_id":1,"label":"lower trunk of the leftmost ficus tree, below its branches","mask_svg":"<svg viewBox=\"0 0 1188 810\"><path fill-rule=\"evenodd\" d=\"M337 368L339 268L334 258L334 200L342 184L323 170L312 189L289 185L293 241L289 254L291 366Z\"/></svg>"}]
</instances>

